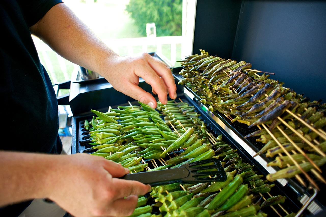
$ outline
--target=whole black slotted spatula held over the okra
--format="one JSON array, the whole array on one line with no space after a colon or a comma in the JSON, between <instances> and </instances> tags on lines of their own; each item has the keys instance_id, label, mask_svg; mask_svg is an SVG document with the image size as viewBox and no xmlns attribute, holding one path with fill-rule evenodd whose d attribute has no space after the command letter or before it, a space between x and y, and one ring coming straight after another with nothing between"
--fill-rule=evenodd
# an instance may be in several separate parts
<instances>
[{"instance_id":1,"label":"whole black slotted spatula held over the okra","mask_svg":"<svg viewBox=\"0 0 326 217\"><path fill-rule=\"evenodd\" d=\"M120 177L126 180L136 180L152 187L171 183L201 183L212 181L225 181L227 176L216 158L184 164L177 168L162 169L139 173L126 174Z\"/></svg>"}]
</instances>

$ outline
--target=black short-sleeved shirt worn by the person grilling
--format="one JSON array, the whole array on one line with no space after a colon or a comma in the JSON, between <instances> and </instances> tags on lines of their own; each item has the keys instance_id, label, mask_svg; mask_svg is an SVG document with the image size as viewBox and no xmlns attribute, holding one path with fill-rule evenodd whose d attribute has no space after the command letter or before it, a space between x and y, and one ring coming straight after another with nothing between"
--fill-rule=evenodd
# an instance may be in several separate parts
<instances>
[{"instance_id":1,"label":"black short-sleeved shirt worn by the person grilling","mask_svg":"<svg viewBox=\"0 0 326 217\"><path fill-rule=\"evenodd\" d=\"M2 150L61 152L56 95L29 31L30 26L60 2L0 1ZM17 216L29 203L2 208L0 216Z\"/></svg>"}]
</instances>

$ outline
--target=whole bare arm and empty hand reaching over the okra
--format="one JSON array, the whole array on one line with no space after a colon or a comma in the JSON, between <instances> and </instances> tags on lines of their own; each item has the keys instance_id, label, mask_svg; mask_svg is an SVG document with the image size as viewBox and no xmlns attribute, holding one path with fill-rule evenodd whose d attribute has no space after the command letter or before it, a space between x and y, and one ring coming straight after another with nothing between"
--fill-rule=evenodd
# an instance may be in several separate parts
<instances>
[{"instance_id":1,"label":"whole bare arm and empty hand reaching over the okra","mask_svg":"<svg viewBox=\"0 0 326 217\"><path fill-rule=\"evenodd\" d=\"M156 108L156 100L138 87L139 77L152 86L162 103L166 103L168 93L176 98L176 85L166 65L149 54L119 56L64 3L52 7L30 30L67 60L96 71L116 90L152 108Z\"/></svg>"}]
</instances>

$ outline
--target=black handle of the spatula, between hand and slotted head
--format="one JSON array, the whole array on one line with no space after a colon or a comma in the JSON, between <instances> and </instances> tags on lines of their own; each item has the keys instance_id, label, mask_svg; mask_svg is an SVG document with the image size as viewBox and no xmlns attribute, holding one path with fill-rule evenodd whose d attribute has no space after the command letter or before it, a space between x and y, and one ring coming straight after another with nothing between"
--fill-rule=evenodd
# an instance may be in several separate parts
<instances>
[{"instance_id":1,"label":"black handle of the spatula, between hand and slotted head","mask_svg":"<svg viewBox=\"0 0 326 217\"><path fill-rule=\"evenodd\" d=\"M172 169L162 169L156 171L147 171L140 173L126 174L121 179L140 181L144 184L150 184L152 187L181 182L183 178L188 177L189 170L185 167Z\"/></svg>"}]
</instances>

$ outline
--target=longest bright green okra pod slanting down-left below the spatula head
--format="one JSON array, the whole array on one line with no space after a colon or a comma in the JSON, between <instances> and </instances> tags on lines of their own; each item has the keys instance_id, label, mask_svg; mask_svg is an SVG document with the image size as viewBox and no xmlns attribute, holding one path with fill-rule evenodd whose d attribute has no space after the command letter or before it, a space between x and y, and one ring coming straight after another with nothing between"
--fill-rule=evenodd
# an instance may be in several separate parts
<instances>
[{"instance_id":1,"label":"longest bright green okra pod slanting down-left below the spatula head","mask_svg":"<svg viewBox=\"0 0 326 217\"><path fill-rule=\"evenodd\" d=\"M243 182L244 173L235 175L234 179L220 191L209 203L207 209L215 210L227 201Z\"/></svg>"}]
</instances>

